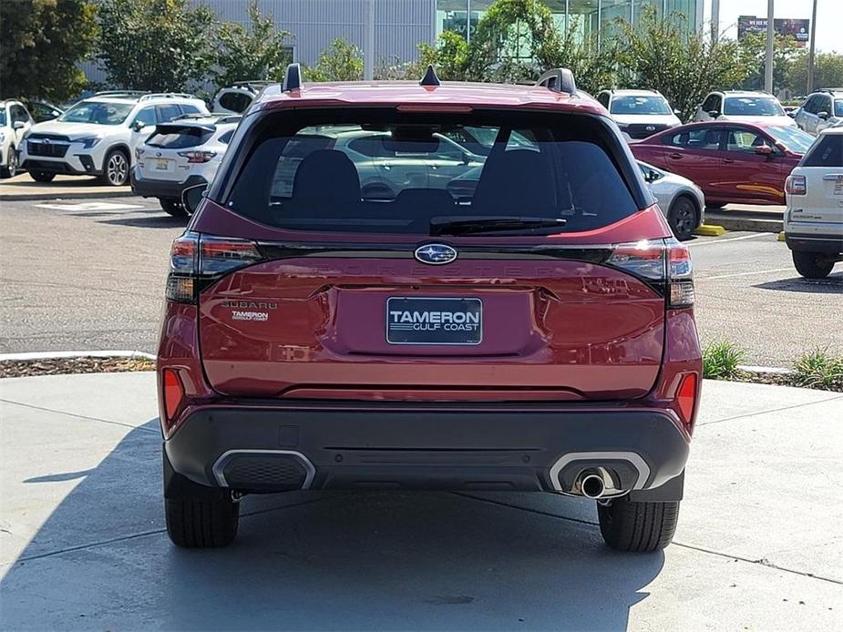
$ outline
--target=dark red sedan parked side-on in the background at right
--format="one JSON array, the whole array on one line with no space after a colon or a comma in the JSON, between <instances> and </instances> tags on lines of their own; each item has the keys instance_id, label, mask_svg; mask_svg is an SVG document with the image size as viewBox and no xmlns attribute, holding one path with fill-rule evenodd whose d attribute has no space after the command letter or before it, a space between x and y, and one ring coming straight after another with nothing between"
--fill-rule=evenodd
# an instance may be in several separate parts
<instances>
[{"instance_id":1,"label":"dark red sedan parked side-on in the background at right","mask_svg":"<svg viewBox=\"0 0 843 632\"><path fill-rule=\"evenodd\" d=\"M814 142L797 127L691 123L632 143L635 158L688 178L710 207L784 204L785 179Z\"/></svg>"}]
</instances>

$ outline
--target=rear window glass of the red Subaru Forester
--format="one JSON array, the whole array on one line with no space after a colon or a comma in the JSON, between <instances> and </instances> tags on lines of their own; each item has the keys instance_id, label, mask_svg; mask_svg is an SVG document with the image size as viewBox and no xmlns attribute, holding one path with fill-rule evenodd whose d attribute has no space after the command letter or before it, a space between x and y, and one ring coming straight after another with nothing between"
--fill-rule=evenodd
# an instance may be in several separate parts
<instances>
[{"instance_id":1,"label":"rear window glass of the red Subaru Forester","mask_svg":"<svg viewBox=\"0 0 843 632\"><path fill-rule=\"evenodd\" d=\"M485 153L480 138L491 140ZM211 198L286 229L430 235L450 219L529 217L556 221L548 234L601 228L649 203L622 143L582 115L279 112L235 153L229 164L242 167Z\"/></svg>"}]
</instances>

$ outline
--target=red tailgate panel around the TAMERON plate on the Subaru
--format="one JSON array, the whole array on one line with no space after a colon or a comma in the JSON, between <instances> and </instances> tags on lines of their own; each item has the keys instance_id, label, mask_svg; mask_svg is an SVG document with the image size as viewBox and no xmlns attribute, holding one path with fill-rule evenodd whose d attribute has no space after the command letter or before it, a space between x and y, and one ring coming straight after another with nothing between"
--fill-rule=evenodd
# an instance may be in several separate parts
<instances>
[{"instance_id":1,"label":"red tailgate panel around the TAMERON plate on the Subaru","mask_svg":"<svg viewBox=\"0 0 843 632\"><path fill-rule=\"evenodd\" d=\"M582 260L297 258L203 291L200 341L229 395L625 399L653 387L664 311Z\"/></svg>"}]
</instances>

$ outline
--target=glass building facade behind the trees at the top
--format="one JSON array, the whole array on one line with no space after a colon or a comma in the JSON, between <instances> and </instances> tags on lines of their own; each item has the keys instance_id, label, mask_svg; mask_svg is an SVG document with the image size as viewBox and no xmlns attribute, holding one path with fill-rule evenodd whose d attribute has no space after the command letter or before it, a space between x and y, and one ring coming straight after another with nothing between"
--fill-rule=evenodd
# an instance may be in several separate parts
<instances>
[{"instance_id":1,"label":"glass building facade behind the trees at the top","mask_svg":"<svg viewBox=\"0 0 843 632\"><path fill-rule=\"evenodd\" d=\"M618 31L618 20L637 25L647 6L658 15L682 14L689 30L701 28L703 0L543 0L561 29L571 29L582 38L598 41ZM437 36L457 31L467 39L494 0L436 0Z\"/></svg>"}]
</instances>

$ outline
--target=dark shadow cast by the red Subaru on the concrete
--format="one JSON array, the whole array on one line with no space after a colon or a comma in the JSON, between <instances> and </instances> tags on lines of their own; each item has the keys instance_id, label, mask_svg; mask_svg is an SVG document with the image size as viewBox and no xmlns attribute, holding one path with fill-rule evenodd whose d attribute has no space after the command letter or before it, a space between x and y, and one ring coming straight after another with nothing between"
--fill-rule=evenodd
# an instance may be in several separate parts
<instances>
[{"instance_id":1,"label":"dark shadow cast by the red Subaru on the concrete","mask_svg":"<svg viewBox=\"0 0 843 632\"><path fill-rule=\"evenodd\" d=\"M84 475L0 583L5 629L625 629L663 567L603 545L592 503L550 494L250 496L232 545L179 549L157 429L27 481L36 496Z\"/></svg>"}]
</instances>

